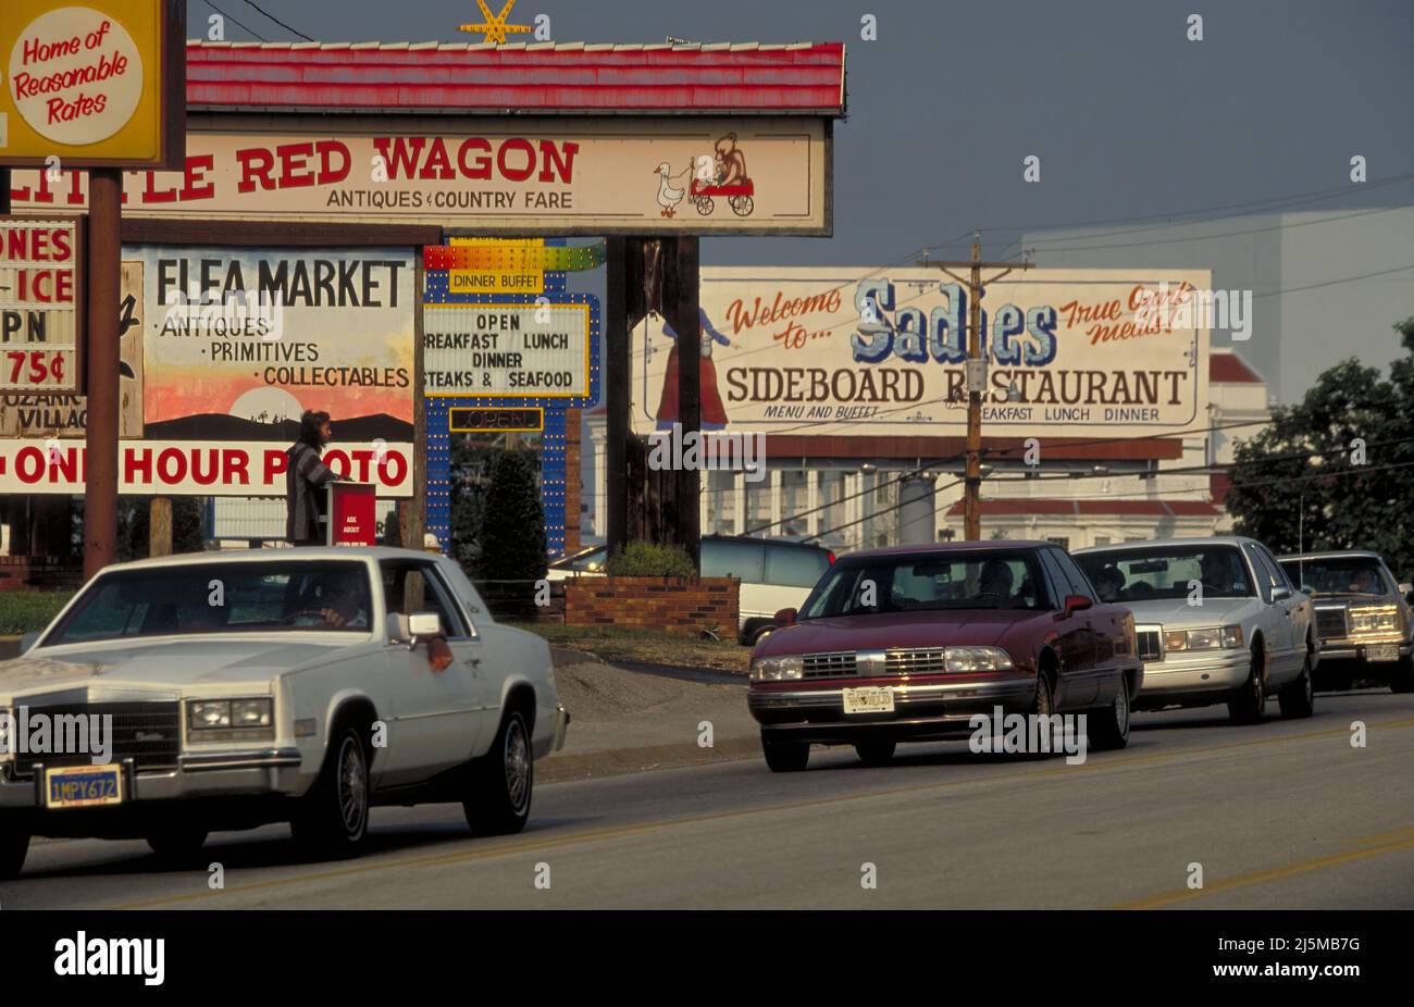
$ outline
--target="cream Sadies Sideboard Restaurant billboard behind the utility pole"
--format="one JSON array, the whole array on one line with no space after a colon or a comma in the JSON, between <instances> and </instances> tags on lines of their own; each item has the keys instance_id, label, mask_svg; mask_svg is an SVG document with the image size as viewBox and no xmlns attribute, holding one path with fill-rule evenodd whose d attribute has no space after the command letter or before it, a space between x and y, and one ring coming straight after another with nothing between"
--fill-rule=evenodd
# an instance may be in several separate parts
<instances>
[{"instance_id":1,"label":"cream Sadies Sideboard Restaurant billboard behind the utility pole","mask_svg":"<svg viewBox=\"0 0 1414 1007\"><path fill-rule=\"evenodd\" d=\"M983 431L1134 437L1206 424L1206 270L1014 272L984 290ZM677 366L701 368L704 430L962 436L969 291L940 270L701 272L701 334L650 314L633 334L633 423L677 420Z\"/></svg>"}]
</instances>

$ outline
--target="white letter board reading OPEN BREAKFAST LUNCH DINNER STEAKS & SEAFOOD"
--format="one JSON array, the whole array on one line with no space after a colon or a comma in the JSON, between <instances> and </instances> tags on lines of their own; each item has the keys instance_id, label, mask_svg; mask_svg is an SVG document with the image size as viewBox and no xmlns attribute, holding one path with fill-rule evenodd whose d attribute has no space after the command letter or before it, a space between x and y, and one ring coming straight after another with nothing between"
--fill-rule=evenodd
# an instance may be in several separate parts
<instances>
[{"instance_id":1,"label":"white letter board reading OPEN BREAKFAST LUNCH DINNER STEAKS & SEAFOOD","mask_svg":"<svg viewBox=\"0 0 1414 1007\"><path fill-rule=\"evenodd\" d=\"M426 304L424 308L424 395L588 395L587 304Z\"/></svg>"}]
</instances>

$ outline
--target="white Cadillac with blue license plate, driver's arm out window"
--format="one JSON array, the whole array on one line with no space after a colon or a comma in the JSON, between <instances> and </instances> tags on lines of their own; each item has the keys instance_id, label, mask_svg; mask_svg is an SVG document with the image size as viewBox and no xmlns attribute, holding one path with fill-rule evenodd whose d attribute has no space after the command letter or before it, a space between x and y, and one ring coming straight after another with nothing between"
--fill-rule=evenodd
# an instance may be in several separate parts
<instances>
[{"instance_id":1,"label":"white Cadillac with blue license plate, driver's arm out window","mask_svg":"<svg viewBox=\"0 0 1414 1007\"><path fill-rule=\"evenodd\" d=\"M28 641L27 641L28 644ZM354 853L372 805L461 802L519 832L564 744L549 645L461 569L403 549L195 553L107 567L0 662L0 878L30 837L290 822Z\"/></svg>"}]
</instances>

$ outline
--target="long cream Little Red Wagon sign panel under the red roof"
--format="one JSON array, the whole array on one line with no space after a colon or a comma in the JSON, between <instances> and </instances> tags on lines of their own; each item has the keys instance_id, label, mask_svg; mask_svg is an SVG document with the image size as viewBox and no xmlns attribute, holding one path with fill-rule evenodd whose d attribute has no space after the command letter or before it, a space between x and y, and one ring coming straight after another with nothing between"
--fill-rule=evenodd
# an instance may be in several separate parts
<instances>
[{"instance_id":1,"label":"long cream Little Red Wagon sign panel under the red roof","mask_svg":"<svg viewBox=\"0 0 1414 1007\"><path fill-rule=\"evenodd\" d=\"M783 119L468 120L460 132L191 133L124 215L430 223L478 233L830 233L826 127ZM81 209L86 180L14 175L16 209Z\"/></svg>"}]
</instances>

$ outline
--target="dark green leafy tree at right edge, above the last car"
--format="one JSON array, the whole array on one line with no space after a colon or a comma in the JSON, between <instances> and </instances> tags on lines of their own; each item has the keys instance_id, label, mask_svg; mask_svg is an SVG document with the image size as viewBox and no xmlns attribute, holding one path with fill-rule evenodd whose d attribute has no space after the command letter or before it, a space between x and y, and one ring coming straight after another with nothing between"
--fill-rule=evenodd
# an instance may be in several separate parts
<instances>
[{"instance_id":1,"label":"dark green leafy tree at right edge, above the last car","mask_svg":"<svg viewBox=\"0 0 1414 1007\"><path fill-rule=\"evenodd\" d=\"M1414 318L1394 327L1404 355L1379 368L1346 359L1270 427L1234 450L1227 509L1241 535L1277 553L1370 549L1414 574Z\"/></svg>"}]
</instances>

